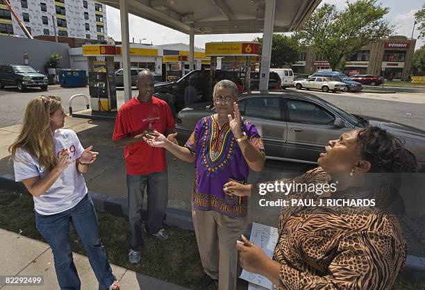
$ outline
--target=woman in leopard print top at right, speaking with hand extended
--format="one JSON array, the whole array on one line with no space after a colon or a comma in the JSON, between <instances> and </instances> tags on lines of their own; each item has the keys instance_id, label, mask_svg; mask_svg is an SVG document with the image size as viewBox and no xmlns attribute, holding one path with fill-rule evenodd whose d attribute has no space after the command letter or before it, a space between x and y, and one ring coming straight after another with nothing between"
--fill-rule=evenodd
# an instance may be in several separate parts
<instances>
[{"instance_id":1,"label":"woman in leopard print top at right, speaking with hand extended","mask_svg":"<svg viewBox=\"0 0 425 290\"><path fill-rule=\"evenodd\" d=\"M236 244L244 269L265 275L276 289L390 289L406 262L406 241L390 214L388 182L372 174L414 172L415 156L399 139L377 127L353 130L330 141L319 167L283 183L331 184L336 191L268 192L267 199L374 199L374 207L283 207L278 243L270 259L246 238ZM374 175L376 181L376 175ZM265 182L274 184L275 181ZM363 186L359 186L363 185ZM228 182L227 194L251 195L258 187ZM263 187L264 188L264 187ZM254 190L253 190L254 189Z\"/></svg>"}]
</instances>

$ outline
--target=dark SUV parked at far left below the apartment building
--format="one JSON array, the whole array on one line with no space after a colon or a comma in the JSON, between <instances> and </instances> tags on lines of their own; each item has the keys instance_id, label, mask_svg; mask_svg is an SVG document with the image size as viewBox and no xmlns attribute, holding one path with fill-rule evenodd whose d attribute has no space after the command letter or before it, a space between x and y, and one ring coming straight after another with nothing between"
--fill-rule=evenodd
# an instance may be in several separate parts
<instances>
[{"instance_id":1,"label":"dark SUV parked at far left below the apartment building","mask_svg":"<svg viewBox=\"0 0 425 290\"><path fill-rule=\"evenodd\" d=\"M48 84L47 76L28 65L0 65L0 88L16 86L22 92L27 87L40 87L45 91Z\"/></svg>"}]
</instances>

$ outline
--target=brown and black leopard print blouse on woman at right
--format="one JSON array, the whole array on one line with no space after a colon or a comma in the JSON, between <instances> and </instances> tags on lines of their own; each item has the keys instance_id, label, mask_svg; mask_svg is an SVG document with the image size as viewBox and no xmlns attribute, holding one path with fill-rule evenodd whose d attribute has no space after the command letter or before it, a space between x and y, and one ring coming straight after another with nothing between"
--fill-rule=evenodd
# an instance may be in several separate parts
<instances>
[{"instance_id":1,"label":"brown and black leopard print blouse on woman at right","mask_svg":"<svg viewBox=\"0 0 425 290\"><path fill-rule=\"evenodd\" d=\"M320 167L283 180L330 181ZM374 196L385 198L385 192L378 190ZM282 196L267 196L276 198ZM397 218L374 207L283 207L278 234L274 260L281 271L276 289L390 289L406 262L406 241Z\"/></svg>"}]
</instances>

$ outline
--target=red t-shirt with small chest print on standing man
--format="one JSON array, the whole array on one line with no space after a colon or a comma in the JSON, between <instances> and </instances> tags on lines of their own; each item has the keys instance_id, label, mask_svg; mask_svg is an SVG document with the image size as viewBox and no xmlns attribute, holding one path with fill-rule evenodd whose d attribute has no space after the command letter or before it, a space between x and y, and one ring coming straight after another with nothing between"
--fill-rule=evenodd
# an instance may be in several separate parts
<instances>
[{"instance_id":1,"label":"red t-shirt with small chest print on standing man","mask_svg":"<svg viewBox=\"0 0 425 290\"><path fill-rule=\"evenodd\" d=\"M142 103L137 96L125 103L117 114L113 139L135 136L149 126L164 134L174 129L174 119L165 101L152 96L150 103ZM143 140L124 146L128 175L144 175L167 169L165 149L149 146Z\"/></svg>"}]
</instances>

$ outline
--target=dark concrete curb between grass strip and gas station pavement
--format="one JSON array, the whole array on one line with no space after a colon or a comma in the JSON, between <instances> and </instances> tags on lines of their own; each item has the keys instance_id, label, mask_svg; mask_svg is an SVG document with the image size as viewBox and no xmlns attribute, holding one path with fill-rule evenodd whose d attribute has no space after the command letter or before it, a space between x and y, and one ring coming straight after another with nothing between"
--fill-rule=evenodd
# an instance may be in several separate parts
<instances>
[{"instance_id":1,"label":"dark concrete curb between grass strip and gas station pavement","mask_svg":"<svg viewBox=\"0 0 425 290\"><path fill-rule=\"evenodd\" d=\"M15 178L11 174L0 174L0 188L28 192L22 182L15 182ZM127 216L128 205L125 198L116 198L94 191L89 191L89 194L96 210L109 212L117 216ZM145 214L147 214L147 210L143 209L142 216ZM177 228L194 230L192 212L188 210L178 210L168 207L165 223ZM249 223L244 233L246 237L251 235L251 227L252 223ZM406 266L399 276L415 280L425 280L425 257L407 255Z\"/></svg>"}]
</instances>

